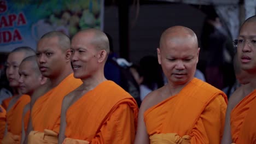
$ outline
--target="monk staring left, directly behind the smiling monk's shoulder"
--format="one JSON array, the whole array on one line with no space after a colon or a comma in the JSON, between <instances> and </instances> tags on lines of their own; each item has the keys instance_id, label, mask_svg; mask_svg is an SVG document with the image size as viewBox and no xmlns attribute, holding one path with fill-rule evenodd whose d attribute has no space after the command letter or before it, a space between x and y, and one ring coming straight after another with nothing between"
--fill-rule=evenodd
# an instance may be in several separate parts
<instances>
[{"instance_id":1,"label":"monk staring left, directly behind the smiling monk's shoulder","mask_svg":"<svg viewBox=\"0 0 256 144\"><path fill-rule=\"evenodd\" d=\"M57 143L62 99L82 84L73 76L70 56L70 40L61 32L46 33L38 41L37 62L42 75L50 81L50 91L32 107L28 143Z\"/></svg>"}]
</instances>

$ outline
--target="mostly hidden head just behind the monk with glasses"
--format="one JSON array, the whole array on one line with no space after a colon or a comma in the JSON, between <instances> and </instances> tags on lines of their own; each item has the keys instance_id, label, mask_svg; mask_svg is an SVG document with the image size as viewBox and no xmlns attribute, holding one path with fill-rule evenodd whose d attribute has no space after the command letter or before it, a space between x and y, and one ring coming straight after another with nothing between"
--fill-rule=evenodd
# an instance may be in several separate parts
<instances>
[{"instance_id":1,"label":"mostly hidden head just behind the monk with glasses","mask_svg":"<svg viewBox=\"0 0 256 144\"><path fill-rule=\"evenodd\" d=\"M243 85L249 83L248 73L245 70L241 69L241 62L238 61L237 53L234 56L233 65L234 65L236 79L239 81L239 83Z\"/></svg>"}]
</instances>

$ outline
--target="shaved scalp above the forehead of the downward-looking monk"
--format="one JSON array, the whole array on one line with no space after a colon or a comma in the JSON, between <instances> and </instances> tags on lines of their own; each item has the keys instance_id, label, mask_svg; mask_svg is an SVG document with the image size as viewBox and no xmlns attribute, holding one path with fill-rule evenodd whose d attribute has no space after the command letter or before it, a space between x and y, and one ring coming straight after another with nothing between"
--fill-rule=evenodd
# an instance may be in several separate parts
<instances>
[{"instance_id":1,"label":"shaved scalp above the forehead of the downward-looking monk","mask_svg":"<svg viewBox=\"0 0 256 144\"><path fill-rule=\"evenodd\" d=\"M198 48L196 34L187 27L174 26L166 29L160 38L160 49L164 44L170 41L174 43L191 43L194 44L196 48Z\"/></svg>"}]
</instances>

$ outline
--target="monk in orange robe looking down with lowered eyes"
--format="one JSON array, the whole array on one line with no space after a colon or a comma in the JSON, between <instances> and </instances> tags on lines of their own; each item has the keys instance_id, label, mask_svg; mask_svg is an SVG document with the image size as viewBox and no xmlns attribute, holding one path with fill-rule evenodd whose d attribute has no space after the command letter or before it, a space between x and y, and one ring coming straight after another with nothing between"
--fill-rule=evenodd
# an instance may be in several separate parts
<instances>
[{"instance_id":1,"label":"monk in orange robe looking down with lowered eyes","mask_svg":"<svg viewBox=\"0 0 256 144\"><path fill-rule=\"evenodd\" d=\"M162 33L158 62L168 83L143 100L135 143L220 143L227 98L194 77L199 51L187 27Z\"/></svg>"}]
</instances>

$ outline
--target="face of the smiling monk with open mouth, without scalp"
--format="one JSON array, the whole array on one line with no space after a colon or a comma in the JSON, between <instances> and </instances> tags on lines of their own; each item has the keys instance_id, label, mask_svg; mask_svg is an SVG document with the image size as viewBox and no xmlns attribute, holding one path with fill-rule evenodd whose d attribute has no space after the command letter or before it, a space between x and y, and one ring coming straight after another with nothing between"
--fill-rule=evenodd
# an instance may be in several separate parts
<instances>
[{"instance_id":1,"label":"face of the smiling monk with open mouth, without scalp","mask_svg":"<svg viewBox=\"0 0 256 144\"><path fill-rule=\"evenodd\" d=\"M71 63L74 77L86 79L92 76L98 69L98 55L100 51L90 43L91 37L75 36L71 41Z\"/></svg>"}]
</instances>

